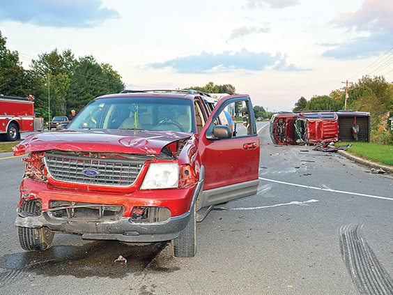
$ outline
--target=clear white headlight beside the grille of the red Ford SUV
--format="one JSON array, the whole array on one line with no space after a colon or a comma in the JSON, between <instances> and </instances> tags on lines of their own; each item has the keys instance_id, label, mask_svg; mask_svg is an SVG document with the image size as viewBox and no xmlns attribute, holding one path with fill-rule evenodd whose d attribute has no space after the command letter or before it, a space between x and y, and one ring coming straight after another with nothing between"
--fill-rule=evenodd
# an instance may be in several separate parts
<instances>
[{"instance_id":1,"label":"clear white headlight beside the grille of the red Ford SUV","mask_svg":"<svg viewBox=\"0 0 393 295\"><path fill-rule=\"evenodd\" d=\"M148 167L142 190L159 188L177 188L179 181L179 166L176 163L152 163Z\"/></svg>"}]
</instances>

